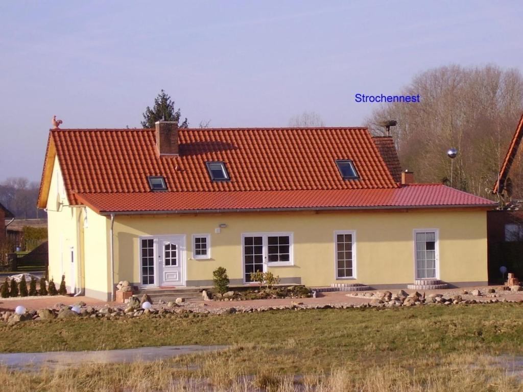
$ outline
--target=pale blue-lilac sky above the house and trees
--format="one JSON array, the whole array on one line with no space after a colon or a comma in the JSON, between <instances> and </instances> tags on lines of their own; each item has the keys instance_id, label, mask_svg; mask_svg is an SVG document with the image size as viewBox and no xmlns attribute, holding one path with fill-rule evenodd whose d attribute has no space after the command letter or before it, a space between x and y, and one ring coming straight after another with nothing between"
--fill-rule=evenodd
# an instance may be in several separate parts
<instances>
[{"instance_id":1,"label":"pale blue-lilac sky above the house and trees","mask_svg":"<svg viewBox=\"0 0 523 392\"><path fill-rule=\"evenodd\" d=\"M430 68L518 68L518 1L0 2L0 181L39 181L61 128L140 127L161 89L190 126L365 123Z\"/></svg>"}]
</instances>

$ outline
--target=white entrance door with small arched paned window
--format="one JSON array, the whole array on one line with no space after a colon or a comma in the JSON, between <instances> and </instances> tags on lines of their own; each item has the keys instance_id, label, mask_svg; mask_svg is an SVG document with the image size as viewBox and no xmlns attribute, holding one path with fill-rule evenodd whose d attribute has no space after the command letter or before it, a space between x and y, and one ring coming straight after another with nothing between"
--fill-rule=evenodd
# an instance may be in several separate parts
<instances>
[{"instance_id":1,"label":"white entrance door with small arched paned window","mask_svg":"<svg viewBox=\"0 0 523 392\"><path fill-rule=\"evenodd\" d=\"M158 250L158 285L185 286L183 238L162 237Z\"/></svg>"}]
</instances>

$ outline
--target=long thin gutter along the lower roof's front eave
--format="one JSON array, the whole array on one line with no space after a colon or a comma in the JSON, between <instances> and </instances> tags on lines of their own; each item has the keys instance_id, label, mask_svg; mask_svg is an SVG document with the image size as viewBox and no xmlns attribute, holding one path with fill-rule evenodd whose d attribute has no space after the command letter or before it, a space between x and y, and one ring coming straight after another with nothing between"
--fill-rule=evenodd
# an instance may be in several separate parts
<instances>
[{"instance_id":1,"label":"long thin gutter along the lower roof's front eave","mask_svg":"<svg viewBox=\"0 0 523 392\"><path fill-rule=\"evenodd\" d=\"M164 215L164 214L202 214L225 212L285 212L285 211L354 211L354 210L416 210L438 208L492 208L493 204L461 204L461 205L405 205L405 206L359 206L359 207L291 207L291 208L252 208L252 209L213 209L213 210L165 210L165 211L100 211L100 215Z\"/></svg>"}]
</instances>

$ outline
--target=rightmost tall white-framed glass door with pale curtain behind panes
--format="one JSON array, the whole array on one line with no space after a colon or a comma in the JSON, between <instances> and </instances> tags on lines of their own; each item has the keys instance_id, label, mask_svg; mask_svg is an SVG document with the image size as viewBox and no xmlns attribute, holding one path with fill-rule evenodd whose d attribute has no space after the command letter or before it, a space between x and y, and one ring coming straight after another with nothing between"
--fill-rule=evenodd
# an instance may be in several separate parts
<instances>
[{"instance_id":1,"label":"rightmost tall white-framed glass door with pale curtain behind panes","mask_svg":"<svg viewBox=\"0 0 523 392\"><path fill-rule=\"evenodd\" d=\"M438 229L414 230L415 279L438 279Z\"/></svg>"}]
</instances>

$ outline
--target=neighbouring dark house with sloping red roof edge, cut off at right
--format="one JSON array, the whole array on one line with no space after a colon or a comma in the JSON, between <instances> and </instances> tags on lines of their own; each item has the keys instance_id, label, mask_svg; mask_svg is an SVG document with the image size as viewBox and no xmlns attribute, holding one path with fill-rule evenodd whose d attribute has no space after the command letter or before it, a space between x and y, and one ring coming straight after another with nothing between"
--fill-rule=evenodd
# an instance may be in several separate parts
<instances>
[{"instance_id":1,"label":"neighbouring dark house with sloping red roof edge, cut off at right","mask_svg":"<svg viewBox=\"0 0 523 392\"><path fill-rule=\"evenodd\" d=\"M523 116L510 141L493 192L499 197L499 208L487 213L488 279L504 281L500 267L506 267L523 278Z\"/></svg>"}]
</instances>

